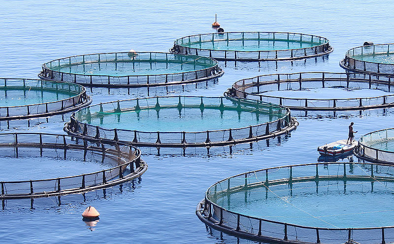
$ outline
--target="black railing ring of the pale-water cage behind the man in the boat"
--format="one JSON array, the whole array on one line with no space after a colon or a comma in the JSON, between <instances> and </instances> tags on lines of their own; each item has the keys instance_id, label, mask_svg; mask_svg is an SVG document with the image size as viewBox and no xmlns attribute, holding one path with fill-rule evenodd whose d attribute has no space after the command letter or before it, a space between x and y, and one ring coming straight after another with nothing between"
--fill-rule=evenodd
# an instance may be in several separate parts
<instances>
[{"instance_id":1,"label":"black railing ring of the pale-water cage behind the man in the boat","mask_svg":"<svg viewBox=\"0 0 394 244\"><path fill-rule=\"evenodd\" d=\"M264 95L264 93L328 87L379 89L391 92L394 88L393 81L394 78L390 76L360 73L299 72L265 74L235 82L231 89L225 92L225 96L256 99L283 105L293 110L365 110L393 107L394 94L348 99L309 99L270 96Z\"/></svg>"}]
</instances>

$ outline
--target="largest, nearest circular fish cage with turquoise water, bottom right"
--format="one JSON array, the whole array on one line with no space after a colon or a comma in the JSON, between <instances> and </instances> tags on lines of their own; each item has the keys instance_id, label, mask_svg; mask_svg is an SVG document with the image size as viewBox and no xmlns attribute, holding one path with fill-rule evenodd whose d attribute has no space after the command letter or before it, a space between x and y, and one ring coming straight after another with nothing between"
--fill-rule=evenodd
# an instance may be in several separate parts
<instances>
[{"instance_id":1,"label":"largest, nearest circular fish cage with turquoise water, bottom right","mask_svg":"<svg viewBox=\"0 0 394 244\"><path fill-rule=\"evenodd\" d=\"M392 243L393 187L393 166L282 166L218 181L196 214L213 229L264 243Z\"/></svg>"}]
</instances>

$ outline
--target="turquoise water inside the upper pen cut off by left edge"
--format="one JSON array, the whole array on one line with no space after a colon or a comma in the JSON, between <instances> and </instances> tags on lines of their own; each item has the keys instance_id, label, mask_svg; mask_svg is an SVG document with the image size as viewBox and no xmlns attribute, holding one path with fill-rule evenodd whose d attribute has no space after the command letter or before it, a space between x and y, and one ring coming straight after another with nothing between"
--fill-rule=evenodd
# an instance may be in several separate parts
<instances>
[{"instance_id":1,"label":"turquoise water inside the upper pen cut off by left edge","mask_svg":"<svg viewBox=\"0 0 394 244\"><path fill-rule=\"evenodd\" d=\"M70 94L37 90L0 90L0 106L50 103L72 97Z\"/></svg>"}]
</instances>

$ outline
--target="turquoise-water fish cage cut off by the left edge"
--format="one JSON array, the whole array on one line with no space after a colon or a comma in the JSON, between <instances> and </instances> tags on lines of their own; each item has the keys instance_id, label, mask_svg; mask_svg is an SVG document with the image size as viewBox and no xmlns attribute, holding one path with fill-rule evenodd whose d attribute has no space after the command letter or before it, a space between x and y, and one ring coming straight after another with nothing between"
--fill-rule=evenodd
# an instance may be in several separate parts
<instances>
[{"instance_id":1,"label":"turquoise-water fish cage cut off by the left edge","mask_svg":"<svg viewBox=\"0 0 394 244\"><path fill-rule=\"evenodd\" d=\"M85 87L78 84L0 78L0 120L63 114L91 103Z\"/></svg>"}]
</instances>

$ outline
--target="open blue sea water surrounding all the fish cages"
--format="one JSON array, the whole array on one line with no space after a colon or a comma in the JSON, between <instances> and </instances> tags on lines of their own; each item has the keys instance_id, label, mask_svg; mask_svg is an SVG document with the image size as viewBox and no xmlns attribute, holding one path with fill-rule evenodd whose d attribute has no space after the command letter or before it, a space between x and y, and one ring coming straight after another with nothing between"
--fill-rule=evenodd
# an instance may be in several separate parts
<instances>
[{"instance_id":1,"label":"open blue sea water surrounding all the fish cages","mask_svg":"<svg viewBox=\"0 0 394 244\"><path fill-rule=\"evenodd\" d=\"M225 75L203 89L188 87L171 94L218 96L238 79L265 73L344 71L345 52L364 41L392 41L394 13L385 1L241 1L142 0L106 2L2 1L0 11L0 73L2 77L35 78L41 65L57 58L98 52L168 51L176 38L212 32L214 14L225 31L279 31L321 35L334 52L328 57L278 63L220 62ZM153 89L150 95L165 95ZM93 89L94 104L135 95L144 89ZM355 123L356 139L393 127L393 109L361 112L294 111L300 123L291 135L253 144L205 149L144 148L148 171L141 179L85 195L7 201L0 211L3 243L237 243L212 234L195 215L197 203L216 181L264 167L316 162L316 148L347 138ZM68 115L31 121L2 121L2 131L64 133ZM343 159L348 161L349 158ZM353 157L353 160L357 159ZM32 162L30 162L32 163ZM32 166L34 166L32 164ZM17 168L15 169L18 170ZM376 203L379 204L378 200ZM89 205L100 212L95 227L81 217ZM94 231L92 231L94 230ZM241 243L249 241L239 240Z\"/></svg>"}]
</instances>

